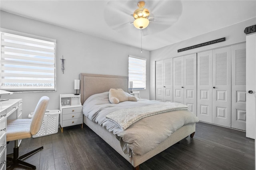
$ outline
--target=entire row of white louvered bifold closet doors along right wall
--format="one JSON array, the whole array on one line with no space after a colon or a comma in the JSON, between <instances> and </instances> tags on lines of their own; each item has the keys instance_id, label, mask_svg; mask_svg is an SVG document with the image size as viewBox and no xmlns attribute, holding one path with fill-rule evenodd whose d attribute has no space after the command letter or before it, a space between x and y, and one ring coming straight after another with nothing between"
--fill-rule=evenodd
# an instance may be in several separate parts
<instances>
[{"instance_id":1,"label":"entire row of white louvered bifold closet doors along right wall","mask_svg":"<svg viewBox=\"0 0 256 170\"><path fill-rule=\"evenodd\" d=\"M167 98L188 105L200 121L246 130L245 43L156 61L156 99Z\"/></svg>"}]
</instances>

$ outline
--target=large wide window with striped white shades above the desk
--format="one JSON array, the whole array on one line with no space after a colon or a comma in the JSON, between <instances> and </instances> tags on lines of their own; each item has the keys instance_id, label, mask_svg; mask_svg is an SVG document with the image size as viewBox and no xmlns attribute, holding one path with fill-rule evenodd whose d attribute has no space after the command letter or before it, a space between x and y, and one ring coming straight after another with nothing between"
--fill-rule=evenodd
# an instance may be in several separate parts
<instances>
[{"instance_id":1,"label":"large wide window with striped white shades above the desk","mask_svg":"<svg viewBox=\"0 0 256 170\"><path fill-rule=\"evenodd\" d=\"M0 89L55 91L56 42L1 32Z\"/></svg>"}]
</instances>

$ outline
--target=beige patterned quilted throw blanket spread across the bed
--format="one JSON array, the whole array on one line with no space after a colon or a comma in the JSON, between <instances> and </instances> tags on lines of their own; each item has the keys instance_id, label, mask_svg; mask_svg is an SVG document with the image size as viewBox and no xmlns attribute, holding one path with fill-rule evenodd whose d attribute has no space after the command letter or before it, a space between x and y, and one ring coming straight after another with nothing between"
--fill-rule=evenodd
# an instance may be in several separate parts
<instances>
[{"instance_id":1,"label":"beige patterned quilted throw blanket spread across the bed","mask_svg":"<svg viewBox=\"0 0 256 170\"><path fill-rule=\"evenodd\" d=\"M122 130L125 130L126 128L130 127L130 125L144 117L164 113L167 111L186 109L188 109L188 106L182 103L158 103L155 105L119 109L106 115L106 118L116 123L116 125L118 125Z\"/></svg>"}]
</instances>

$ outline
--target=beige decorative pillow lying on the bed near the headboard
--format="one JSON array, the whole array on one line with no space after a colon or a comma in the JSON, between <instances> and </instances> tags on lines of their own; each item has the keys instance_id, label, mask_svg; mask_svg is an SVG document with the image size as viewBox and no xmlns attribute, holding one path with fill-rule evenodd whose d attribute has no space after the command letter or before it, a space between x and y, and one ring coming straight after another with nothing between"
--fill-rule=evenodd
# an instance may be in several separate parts
<instances>
[{"instance_id":1,"label":"beige decorative pillow lying on the bed near the headboard","mask_svg":"<svg viewBox=\"0 0 256 170\"><path fill-rule=\"evenodd\" d=\"M112 104L118 104L123 101L137 101L134 96L128 96L123 89L110 89L108 99Z\"/></svg>"}]
</instances>

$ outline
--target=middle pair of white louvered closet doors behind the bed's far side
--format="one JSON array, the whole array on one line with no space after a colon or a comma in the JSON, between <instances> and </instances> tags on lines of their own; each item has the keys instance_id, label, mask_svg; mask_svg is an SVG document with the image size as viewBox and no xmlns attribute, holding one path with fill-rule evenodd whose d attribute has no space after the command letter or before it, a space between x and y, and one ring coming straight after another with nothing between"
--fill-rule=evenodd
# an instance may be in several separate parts
<instances>
[{"instance_id":1,"label":"middle pair of white louvered closet doors behind the bed's far side","mask_svg":"<svg viewBox=\"0 0 256 170\"><path fill-rule=\"evenodd\" d=\"M173 58L173 101L196 115L196 53Z\"/></svg>"}]
</instances>

